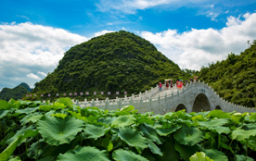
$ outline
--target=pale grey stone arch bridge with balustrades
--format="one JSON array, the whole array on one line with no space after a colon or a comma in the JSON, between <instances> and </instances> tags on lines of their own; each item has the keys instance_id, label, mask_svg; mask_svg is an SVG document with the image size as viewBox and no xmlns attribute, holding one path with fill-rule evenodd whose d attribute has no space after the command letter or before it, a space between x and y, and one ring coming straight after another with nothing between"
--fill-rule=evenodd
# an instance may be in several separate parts
<instances>
[{"instance_id":1,"label":"pale grey stone arch bridge with balustrades","mask_svg":"<svg viewBox=\"0 0 256 161\"><path fill-rule=\"evenodd\" d=\"M138 112L145 113L153 111L155 115L165 114L185 109L187 113L210 111L221 109L224 112L256 112L255 108L248 108L241 105L234 105L223 100L217 93L213 91L211 86L204 82L192 82L183 87L182 90L177 90L176 87L166 89L163 84L163 91L159 90L158 85L151 88L150 91L132 95L131 97L116 98L109 100L92 100L84 102L74 102L75 105L81 107L96 106L100 109L115 110L122 108L124 105L134 105Z\"/></svg>"}]
</instances>

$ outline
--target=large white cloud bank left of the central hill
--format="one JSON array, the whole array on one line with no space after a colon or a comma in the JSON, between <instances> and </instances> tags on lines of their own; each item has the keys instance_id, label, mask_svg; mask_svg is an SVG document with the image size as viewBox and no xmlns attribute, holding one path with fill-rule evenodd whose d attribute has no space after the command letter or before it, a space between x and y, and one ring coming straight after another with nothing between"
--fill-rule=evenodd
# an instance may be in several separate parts
<instances>
[{"instance_id":1,"label":"large white cloud bank left of the central hill","mask_svg":"<svg viewBox=\"0 0 256 161\"><path fill-rule=\"evenodd\" d=\"M62 29L30 22L0 25L0 88L13 88L20 82L33 86L41 74L57 68L71 46L88 38ZM28 77L32 79L28 79Z\"/></svg>"}]
</instances>

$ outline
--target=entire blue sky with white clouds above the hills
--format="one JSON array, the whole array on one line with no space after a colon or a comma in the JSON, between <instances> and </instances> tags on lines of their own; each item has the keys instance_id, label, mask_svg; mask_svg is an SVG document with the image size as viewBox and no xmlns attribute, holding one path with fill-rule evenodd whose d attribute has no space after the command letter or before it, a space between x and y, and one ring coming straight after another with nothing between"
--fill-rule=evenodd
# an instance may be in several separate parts
<instances>
[{"instance_id":1,"label":"entire blue sky with white clouds above the hills","mask_svg":"<svg viewBox=\"0 0 256 161\"><path fill-rule=\"evenodd\" d=\"M256 40L255 0L0 0L0 90L45 78L71 46L111 31L154 43L180 68Z\"/></svg>"}]
</instances>

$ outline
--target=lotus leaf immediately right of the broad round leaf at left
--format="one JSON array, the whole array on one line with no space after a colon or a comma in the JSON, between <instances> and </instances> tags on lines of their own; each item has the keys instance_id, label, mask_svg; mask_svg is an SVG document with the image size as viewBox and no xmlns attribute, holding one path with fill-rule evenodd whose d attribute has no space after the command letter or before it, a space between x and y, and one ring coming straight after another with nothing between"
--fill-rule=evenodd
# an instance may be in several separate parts
<instances>
[{"instance_id":1,"label":"lotus leaf immediately right of the broad round leaf at left","mask_svg":"<svg viewBox=\"0 0 256 161\"><path fill-rule=\"evenodd\" d=\"M105 128L104 126L86 124L85 130L83 130L82 136L88 139L100 138L105 135L110 130L110 127Z\"/></svg>"}]
</instances>

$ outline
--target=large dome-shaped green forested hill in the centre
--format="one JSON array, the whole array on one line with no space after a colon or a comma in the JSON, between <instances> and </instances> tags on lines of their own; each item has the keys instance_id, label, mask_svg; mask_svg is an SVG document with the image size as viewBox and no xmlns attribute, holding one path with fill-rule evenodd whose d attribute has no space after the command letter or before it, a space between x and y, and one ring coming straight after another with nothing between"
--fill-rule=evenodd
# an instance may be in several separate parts
<instances>
[{"instance_id":1,"label":"large dome-shaped green forested hill in the centre","mask_svg":"<svg viewBox=\"0 0 256 161\"><path fill-rule=\"evenodd\" d=\"M139 93L166 78L185 75L152 43L118 31L71 47L58 68L35 83L32 93Z\"/></svg>"}]
</instances>

